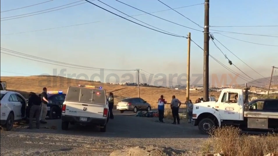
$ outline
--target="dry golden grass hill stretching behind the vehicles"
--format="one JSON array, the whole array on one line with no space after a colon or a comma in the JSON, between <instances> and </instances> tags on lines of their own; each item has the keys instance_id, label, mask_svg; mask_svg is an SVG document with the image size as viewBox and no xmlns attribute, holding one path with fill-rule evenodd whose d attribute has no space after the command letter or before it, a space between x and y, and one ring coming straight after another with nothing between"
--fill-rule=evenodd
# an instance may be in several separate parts
<instances>
[{"instance_id":1,"label":"dry golden grass hill stretching behind the vehicles","mask_svg":"<svg viewBox=\"0 0 278 156\"><path fill-rule=\"evenodd\" d=\"M41 93L43 87L47 87L48 91L67 92L69 86L92 85L102 86L107 92L113 92L115 100L119 101L126 97L138 97L138 90L135 86L112 85L98 83L86 80L77 80L58 76L1 76L1 81L7 82L7 90L15 90L24 96L28 96L30 91ZM211 92L218 97L220 92ZM175 95L181 102L186 100L186 90L175 90L168 88L140 87L140 96L153 107L157 107L157 99L160 95L164 95L165 99L170 102L171 97ZM203 96L200 91L191 91L190 99L192 102Z\"/></svg>"}]
</instances>

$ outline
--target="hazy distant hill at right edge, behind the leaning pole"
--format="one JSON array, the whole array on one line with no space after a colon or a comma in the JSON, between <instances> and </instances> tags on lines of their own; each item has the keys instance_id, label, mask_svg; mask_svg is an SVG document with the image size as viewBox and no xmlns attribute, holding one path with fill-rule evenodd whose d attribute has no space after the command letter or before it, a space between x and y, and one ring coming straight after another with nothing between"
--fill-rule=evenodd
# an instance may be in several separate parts
<instances>
[{"instance_id":1,"label":"hazy distant hill at right edge, behind the leaning pole","mask_svg":"<svg viewBox=\"0 0 278 156\"><path fill-rule=\"evenodd\" d=\"M256 79L256 81L247 82L247 85L248 86L264 87L265 88L265 87L269 86L269 82L270 82L270 77L268 77L268 78L259 78L259 79ZM272 76L271 85L272 85L272 87L278 85L278 75L277 76Z\"/></svg>"}]
</instances>

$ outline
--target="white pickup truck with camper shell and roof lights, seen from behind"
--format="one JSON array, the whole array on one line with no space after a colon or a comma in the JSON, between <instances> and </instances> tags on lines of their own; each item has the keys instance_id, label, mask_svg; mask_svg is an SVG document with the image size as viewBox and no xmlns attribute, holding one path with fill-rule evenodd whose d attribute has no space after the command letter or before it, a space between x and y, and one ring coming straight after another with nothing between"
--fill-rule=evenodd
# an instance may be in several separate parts
<instances>
[{"instance_id":1,"label":"white pickup truck with camper shell and roof lights, seen from behind","mask_svg":"<svg viewBox=\"0 0 278 156\"><path fill-rule=\"evenodd\" d=\"M100 126L106 132L109 109L106 91L95 86L71 86L62 106L62 129L70 124Z\"/></svg>"}]
</instances>

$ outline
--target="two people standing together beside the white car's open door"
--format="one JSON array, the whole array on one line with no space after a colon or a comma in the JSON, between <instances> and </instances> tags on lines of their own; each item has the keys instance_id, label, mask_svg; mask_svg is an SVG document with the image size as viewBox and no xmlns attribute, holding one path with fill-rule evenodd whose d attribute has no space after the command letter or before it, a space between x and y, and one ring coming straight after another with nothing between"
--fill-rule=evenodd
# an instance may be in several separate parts
<instances>
[{"instance_id":1,"label":"two people standing together beside the white car's open door","mask_svg":"<svg viewBox=\"0 0 278 156\"><path fill-rule=\"evenodd\" d=\"M47 88L43 88L43 92L37 95L34 92L30 92L28 99L28 107L30 107L29 113L29 127L28 129L33 129L33 117L36 117L36 128L40 128L40 123L46 124L47 115Z\"/></svg>"}]
</instances>

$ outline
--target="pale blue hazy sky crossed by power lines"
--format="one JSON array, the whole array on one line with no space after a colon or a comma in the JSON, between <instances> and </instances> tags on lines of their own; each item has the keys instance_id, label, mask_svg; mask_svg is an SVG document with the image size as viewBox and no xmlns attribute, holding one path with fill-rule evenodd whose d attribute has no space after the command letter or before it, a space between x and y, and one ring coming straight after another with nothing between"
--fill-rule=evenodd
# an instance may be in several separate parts
<instances>
[{"instance_id":1,"label":"pale blue hazy sky crossed by power lines","mask_svg":"<svg viewBox=\"0 0 278 156\"><path fill-rule=\"evenodd\" d=\"M177 81L179 81L179 84L186 84L186 80L180 82L182 79L185 79L185 75L187 73L186 38L170 36L150 30L146 27L137 25L105 10L102 10L101 8L98 8L88 2L84 3L86 1L74 3L77 2L77 0L53 0L32 7L2 12L5 10L42 3L45 1L1 0L1 20L21 17L17 15L27 14L24 15L27 17L1 21L1 48L21 52L34 57L41 57L49 60L79 65L78 68L83 69L64 67L68 65L61 66L61 64L53 65L57 63L42 63L42 60L37 58L31 58L37 60L33 61L1 53L1 76L30 76L40 74L57 75L60 71L65 69L65 75L62 76L71 78L76 78L75 76L77 76L80 79L90 79L95 76L94 74L102 74L102 71L99 71L98 68L121 70L140 69L141 74L146 74L145 79L143 78L144 76L140 75L140 82L150 82L153 84L155 79L159 78L155 77L150 79L151 81L148 81L148 73L152 73L154 75L164 74L163 79L165 82L167 82L167 84L171 83L171 81L173 81L173 84L176 84ZM156 12L169 9L167 6L157 0L120 1L146 12ZM194 5L176 9L176 11L180 12L190 20L203 27L204 4L200 4L204 3L203 0L161 1L172 8ZM102 0L102 2L107 3L108 5L128 15L144 14L144 12L130 8L129 6L126 6L115 0ZM44 14L28 16L31 15L29 14L31 12L46 10L69 3L73 3L71 5L76 5L79 3L84 4ZM92 3L95 3L118 15L124 17L126 16L112 8L109 8L98 0L93 0ZM70 5L66 5L64 7L67 6ZM210 26L278 25L278 10L276 6L277 0L210 1ZM157 12L153 14L186 27L191 27L201 31L203 30L203 28L199 27L173 10ZM148 14L134 16L134 18L180 36L187 36L188 32L190 32L192 40L203 47L203 32L188 29L186 27L158 19ZM127 19L136 21L130 17ZM146 25L139 21L136 22ZM88 24L79 25L81 23ZM69 25L76 26L65 27ZM42 29L48 30L35 31ZM215 40L215 43L226 55L226 57L229 58L229 60L231 60L236 67L238 67L250 77L247 77L235 66L229 65L228 59L226 59L222 52L220 52L219 49L215 47L213 42L210 41L210 55L235 71L237 74L246 77L245 80L237 78L236 81L238 83L244 83L246 81L251 81L252 79L262 78L262 76L269 77L272 69L271 66L278 66L277 46L258 45L232 39L236 38L248 42L278 45L277 37L227 33L239 32L246 34L278 36L277 27L210 27L210 29L210 32L213 34L214 38L220 41L225 47L233 52L233 54L235 54L234 56ZM215 33L217 31L213 30L227 31L221 32L221 34L232 38L222 36L219 34L219 32ZM202 78L203 51L192 42L190 49L191 83L197 78ZM3 51L2 49L1 52L20 56L18 54ZM21 57L29 58L26 56ZM244 63L238 58L240 58ZM49 61L44 62L49 63ZM245 63L252 67L252 69L245 65ZM94 67L96 69L84 69L84 67L80 66ZM262 76L257 74L253 69ZM213 83L213 81L216 79L226 79L226 77L228 81L227 83L229 83L235 77L235 74L219 65L212 58L209 60L209 73L211 83ZM109 79L107 78L108 74L117 75L119 76L119 79L113 77ZM100 76L101 78L95 77L94 80L116 82L115 80L117 79L118 82L125 82L125 79L121 78L123 74L132 74L132 81L136 82L136 71L103 71L103 76ZM177 74L179 76L179 80L177 80L177 78L170 78L171 74ZM200 79L196 83L202 84L203 81Z\"/></svg>"}]
</instances>

